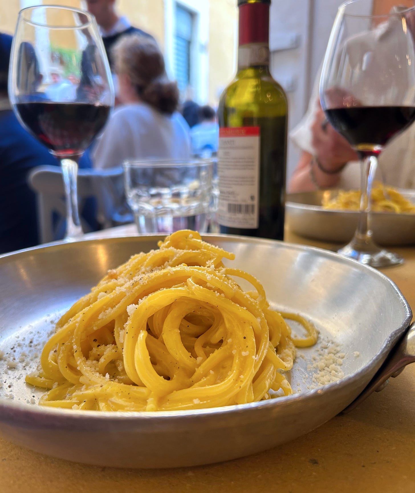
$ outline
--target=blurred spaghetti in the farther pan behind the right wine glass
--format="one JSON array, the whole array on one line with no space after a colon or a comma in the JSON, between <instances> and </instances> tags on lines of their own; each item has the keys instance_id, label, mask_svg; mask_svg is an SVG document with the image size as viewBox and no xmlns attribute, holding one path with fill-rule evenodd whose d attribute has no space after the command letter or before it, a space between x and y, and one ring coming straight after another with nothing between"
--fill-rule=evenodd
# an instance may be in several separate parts
<instances>
[{"instance_id":1,"label":"blurred spaghetti in the farther pan behind the right wine glass","mask_svg":"<svg viewBox=\"0 0 415 493\"><path fill-rule=\"evenodd\" d=\"M323 196L324 209L336 211L358 211L360 209L360 190L340 190L336 198ZM372 211L415 213L415 205L392 187L377 184L372 189Z\"/></svg>"}]
</instances>

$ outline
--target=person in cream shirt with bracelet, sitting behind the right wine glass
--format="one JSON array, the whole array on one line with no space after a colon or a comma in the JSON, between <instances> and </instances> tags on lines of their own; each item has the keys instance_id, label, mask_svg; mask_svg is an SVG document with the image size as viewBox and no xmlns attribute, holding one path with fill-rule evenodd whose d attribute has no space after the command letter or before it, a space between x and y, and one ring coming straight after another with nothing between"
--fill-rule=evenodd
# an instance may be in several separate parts
<instances>
[{"instance_id":1,"label":"person in cream shirt with bracelet, sitting behind the right wine glass","mask_svg":"<svg viewBox=\"0 0 415 493\"><path fill-rule=\"evenodd\" d=\"M399 11L400 8L407 7L395 6L392 12ZM408 22L408 27L414 37L415 12L408 14L408 20L411 20L411 15L414 22ZM394 29L398 30L397 34L394 34ZM401 31L401 22L393 22L391 18L369 34L354 38L347 49L352 54L359 54L361 50L372 47L371 71L381 71L385 57L395 57L393 43L399 39ZM357 56L359 58L361 57ZM359 158L346 139L330 125L320 106L320 76L321 69L314 81L309 108L290 134L291 139L302 150L288 184L290 192L329 187L346 190L360 188ZM398 188L415 188L415 124L385 146L379 156L376 179Z\"/></svg>"}]
</instances>

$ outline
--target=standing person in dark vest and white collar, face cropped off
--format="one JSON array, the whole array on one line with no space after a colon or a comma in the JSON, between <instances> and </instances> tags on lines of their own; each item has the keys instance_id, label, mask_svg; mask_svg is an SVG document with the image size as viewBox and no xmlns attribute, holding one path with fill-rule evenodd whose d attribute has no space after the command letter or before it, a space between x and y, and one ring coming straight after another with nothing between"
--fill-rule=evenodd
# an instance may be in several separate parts
<instances>
[{"instance_id":1,"label":"standing person in dark vest and white collar, face cropped off","mask_svg":"<svg viewBox=\"0 0 415 493\"><path fill-rule=\"evenodd\" d=\"M135 28L125 16L118 16L115 10L116 0L86 0L88 11L95 16L104 41L106 55L111 71L114 68L112 47L124 35L141 35L154 40L153 36Z\"/></svg>"}]
</instances>

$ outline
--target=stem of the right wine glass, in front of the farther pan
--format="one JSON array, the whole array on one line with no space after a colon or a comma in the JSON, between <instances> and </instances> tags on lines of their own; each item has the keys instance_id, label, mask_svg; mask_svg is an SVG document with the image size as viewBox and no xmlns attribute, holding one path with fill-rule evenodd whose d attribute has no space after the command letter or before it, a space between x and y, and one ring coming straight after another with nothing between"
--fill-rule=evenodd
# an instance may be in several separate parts
<instances>
[{"instance_id":1,"label":"stem of the right wine glass, in front of the farther pan","mask_svg":"<svg viewBox=\"0 0 415 493\"><path fill-rule=\"evenodd\" d=\"M361 195L360 195L360 214L357 223L354 242L357 249L362 251L379 250L372 239L371 210L372 210L372 186L378 167L376 156L369 155L360 163L361 173Z\"/></svg>"}]
</instances>

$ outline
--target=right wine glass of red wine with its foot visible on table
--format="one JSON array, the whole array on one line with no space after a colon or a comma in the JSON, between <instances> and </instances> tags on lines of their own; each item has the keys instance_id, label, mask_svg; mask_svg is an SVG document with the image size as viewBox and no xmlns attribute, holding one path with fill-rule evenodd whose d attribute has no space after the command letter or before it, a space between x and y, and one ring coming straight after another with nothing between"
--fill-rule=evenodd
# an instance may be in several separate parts
<instances>
[{"instance_id":1,"label":"right wine glass of red wine with its foot visible on table","mask_svg":"<svg viewBox=\"0 0 415 493\"><path fill-rule=\"evenodd\" d=\"M403 262L373 241L371 193L380 152L415 119L415 7L387 11L385 3L340 6L320 80L327 119L361 159L358 226L339 253L373 267Z\"/></svg>"}]
</instances>

